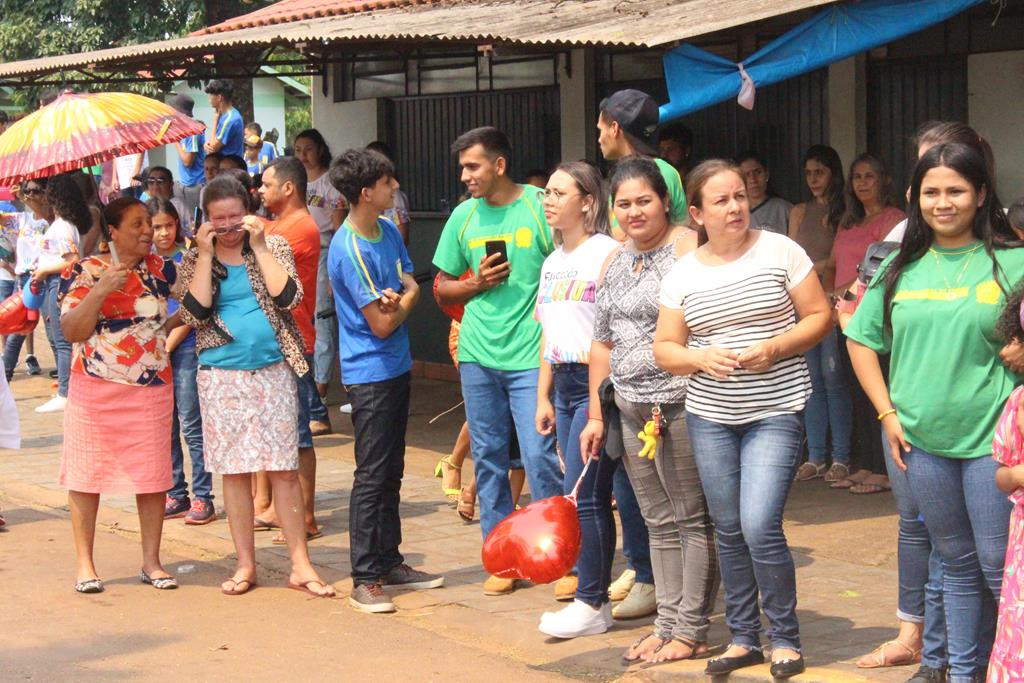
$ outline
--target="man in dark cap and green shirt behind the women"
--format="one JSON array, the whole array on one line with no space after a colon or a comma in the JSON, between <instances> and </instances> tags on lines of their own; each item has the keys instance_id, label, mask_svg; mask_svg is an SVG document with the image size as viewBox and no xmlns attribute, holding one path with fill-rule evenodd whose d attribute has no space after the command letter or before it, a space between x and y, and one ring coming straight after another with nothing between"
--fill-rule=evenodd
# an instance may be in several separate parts
<instances>
[{"instance_id":1,"label":"man in dark cap and green shirt behind the women","mask_svg":"<svg viewBox=\"0 0 1024 683\"><path fill-rule=\"evenodd\" d=\"M683 179L679 171L672 164L657 158L657 102L653 97L639 90L616 90L601 100L597 117L597 144L601 147L601 156L612 163L626 157L653 159L665 177L665 184L669 186L669 220L672 224L679 225L687 221L686 193L683 191ZM610 198L608 217L611 237L624 242L626 233L618 226L615 212L611 210Z\"/></svg>"}]
</instances>

